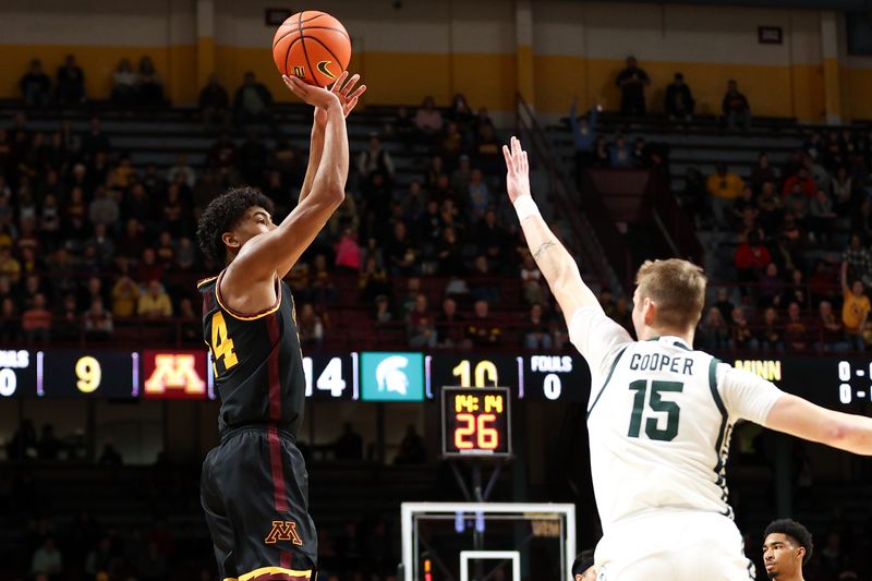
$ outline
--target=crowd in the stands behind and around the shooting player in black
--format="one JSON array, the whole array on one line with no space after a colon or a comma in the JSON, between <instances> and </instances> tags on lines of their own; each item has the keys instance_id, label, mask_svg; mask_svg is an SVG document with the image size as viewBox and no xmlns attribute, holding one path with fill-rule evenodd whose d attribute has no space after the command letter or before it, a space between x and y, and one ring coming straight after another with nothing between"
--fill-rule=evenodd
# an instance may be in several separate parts
<instances>
[{"instance_id":1,"label":"crowd in the stands behind and around the shooting player in black","mask_svg":"<svg viewBox=\"0 0 872 581\"><path fill-rule=\"evenodd\" d=\"M72 56L66 69L82 81ZM60 99L60 73L52 90L40 71L34 61L22 78L25 104L80 102ZM136 71L122 59L113 73L118 107L162 99L150 59ZM215 268L193 242L199 214L217 193L247 184L274 199L280 220L302 185L306 152L271 123L271 105L253 73L232 102L213 75L199 113L215 141L196 168L183 154L170 168L135 164L97 116L78 134L63 120L55 132L33 131L24 112L0 129L0 338L97 341L172 319L198 342L193 281ZM408 347L562 343L559 313L504 195L500 145L487 110L473 111L462 95L448 107L426 97L417 110L399 108L372 133L354 152L346 203L287 278L304 344L329 343L331 311L344 307L403 329ZM395 155L411 161L402 179ZM634 155L627 148L616 160ZM413 288L420 277L425 290Z\"/></svg>"}]
</instances>

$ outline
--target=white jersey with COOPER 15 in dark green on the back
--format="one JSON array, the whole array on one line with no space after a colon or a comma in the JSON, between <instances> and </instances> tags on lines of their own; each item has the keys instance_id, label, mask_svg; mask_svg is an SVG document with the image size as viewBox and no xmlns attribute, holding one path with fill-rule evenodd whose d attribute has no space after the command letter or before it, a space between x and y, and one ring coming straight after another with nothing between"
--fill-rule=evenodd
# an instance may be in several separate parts
<instances>
[{"instance_id":1,"label":"white jersey with COOPER 15 in dark green on the back","mask_svg":"<svg viewBox=\"0 0 872 581\"><path fill-rule=\"evenodd\" d=\"M591 367L591 471L605 536L664 509L731 518L732 425L763 424L782 391L678 337L633 341L598 307L576 312L569 332Z\"/></svg>"}]
</instances>

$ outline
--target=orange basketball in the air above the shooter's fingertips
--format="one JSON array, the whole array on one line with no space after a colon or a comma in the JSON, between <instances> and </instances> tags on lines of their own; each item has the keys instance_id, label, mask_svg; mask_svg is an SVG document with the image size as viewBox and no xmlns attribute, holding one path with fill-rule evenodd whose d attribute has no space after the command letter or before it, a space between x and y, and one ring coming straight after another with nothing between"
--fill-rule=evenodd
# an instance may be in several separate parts
<instances>
[{"instance_id":1,"label":"orange basketball in the air above the shooter's fingertips","mask_svg":"<svg viewBox=\"0 0 872 581\"><path fill-rule=\"evenodd\" d=\"M272 59L281 74L324 87L348 66L351 38L342 23L325 12L298 12L276 31Z\"/></svg>"}]
</instances>

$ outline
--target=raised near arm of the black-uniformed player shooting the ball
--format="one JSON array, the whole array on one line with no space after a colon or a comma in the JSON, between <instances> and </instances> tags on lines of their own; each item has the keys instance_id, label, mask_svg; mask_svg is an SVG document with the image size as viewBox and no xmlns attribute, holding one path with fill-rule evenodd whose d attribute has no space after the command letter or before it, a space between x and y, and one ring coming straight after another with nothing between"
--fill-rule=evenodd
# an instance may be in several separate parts
<instances>
[{"instance_id":1,"label":"raised near arm of the black-uniformed player shooting the ball","mask_svg":"<svg viewBox=\"0 0 872 581\"><path fill-rule=\"evenodd\" d=\"M220 292L228 306L244 313L275 304L276 276L279 273L283 275L294 265L346 197L348 131L339 96L326 88L306 85L296 77L284 78L294 95L324 110L324 148L310 195L281 226L272 225L269 217L256 208L243 218L267 228L240 249L221 278ZM261 220L264 222L261 223ZM225 237L231 234L226 233ZM232 247L232 240L226 242Z\"/></svg>"}]
</instances>

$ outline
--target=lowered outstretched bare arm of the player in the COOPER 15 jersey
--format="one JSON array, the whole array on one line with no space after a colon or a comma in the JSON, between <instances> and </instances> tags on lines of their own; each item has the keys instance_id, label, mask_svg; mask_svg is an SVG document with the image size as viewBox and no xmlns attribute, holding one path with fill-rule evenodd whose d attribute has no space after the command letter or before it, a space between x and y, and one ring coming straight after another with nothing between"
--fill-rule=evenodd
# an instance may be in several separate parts
<instances>
[{"instance_id":1,"label":"lowered outstretched bare arm of the player in the COOPER 15 jersey","mask_svg":"<svg viewBox=\"0 0 872 581\"><path fill-rule=\"evenodd\" d=\"M840 450L872 456L872 417L851 415L784 394L764 424L771 429Z\"/></svg>"}]
</instances>

